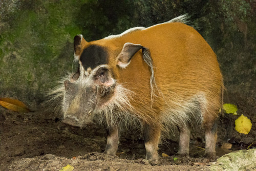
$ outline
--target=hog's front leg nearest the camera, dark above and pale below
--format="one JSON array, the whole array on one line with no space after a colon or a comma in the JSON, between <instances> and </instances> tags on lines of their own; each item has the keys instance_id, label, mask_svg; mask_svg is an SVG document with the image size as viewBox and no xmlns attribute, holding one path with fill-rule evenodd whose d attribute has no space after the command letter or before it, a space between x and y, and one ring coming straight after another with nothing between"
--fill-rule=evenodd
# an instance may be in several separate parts
<instances>
[{"instance_id":1,"label":"hog's front leg nearest the camera, dark above and pale below","mask_svg":"<svg viewBox=\"0 0 256 171\"><path fill-rule=\"evenodd\" d=\"M157 125L145 124L144 141L146 148L146 160L151 164L159 164L158 161L158 143L160 140L161 129Z\"/></svg>"}]
</instances>

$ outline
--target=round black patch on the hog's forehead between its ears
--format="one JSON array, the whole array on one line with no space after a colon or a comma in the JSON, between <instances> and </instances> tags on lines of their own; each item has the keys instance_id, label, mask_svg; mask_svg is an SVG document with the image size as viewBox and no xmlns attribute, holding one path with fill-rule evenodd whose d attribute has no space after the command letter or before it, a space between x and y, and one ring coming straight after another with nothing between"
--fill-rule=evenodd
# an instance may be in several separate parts
<instances>
[{"instance_id":1,"label":"round black patch on the hog's forehead between its ears","mask_svg":"<svg viewBox=\"0 0 256 171\"><path fill-rule=\"evenodd\" d=\"M91 45L83 50L80 61L84 70L89 67L93 70L99 65L108 63L108 53L104 47Z\"/></svg>"}]
</instances>

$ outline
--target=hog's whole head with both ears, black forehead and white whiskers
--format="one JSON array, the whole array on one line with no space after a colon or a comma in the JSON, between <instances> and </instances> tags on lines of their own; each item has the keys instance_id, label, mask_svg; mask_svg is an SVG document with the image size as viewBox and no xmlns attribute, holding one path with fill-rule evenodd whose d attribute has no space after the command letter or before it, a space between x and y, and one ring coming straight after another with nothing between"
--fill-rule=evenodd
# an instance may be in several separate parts
<instances>
[{"instance_id":1,"label":"hog's whole head with both ears, black forehead and white whiskers","mask_svg":"<svg viewBox=\"0 0 256 171\"><path fill-rule=\"evenodd\" d=\"M64 82L62 122L83 127L94 120L96 113L112 110L109 112L112 115L115 106L120 111L127 109L130 105L127 90L117 83L114 72L126 68L132 56L143 47L126 43L113 52L106 46L87 42L81 35L74 38L74 47L79 64L77 72Z\"/></svg>"}]
</instances>

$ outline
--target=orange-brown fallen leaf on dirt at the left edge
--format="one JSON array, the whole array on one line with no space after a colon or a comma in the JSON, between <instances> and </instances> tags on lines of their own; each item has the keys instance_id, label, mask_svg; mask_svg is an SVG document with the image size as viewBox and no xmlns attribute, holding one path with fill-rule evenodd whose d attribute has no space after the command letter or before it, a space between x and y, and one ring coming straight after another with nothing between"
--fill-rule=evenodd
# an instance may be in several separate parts
<instances>
[{"instance_id":1,"label":"orange-brown fallen leaf on dirt at the left edge","mask_svg":"<svg viewBox=\"0 0 256 171\"><path fill-rule=\"evenodd\" d=\"M0 98L0 105L16 112L30 112L29 108L21 101L11 98Z\"/></svg>"}]
</instances>

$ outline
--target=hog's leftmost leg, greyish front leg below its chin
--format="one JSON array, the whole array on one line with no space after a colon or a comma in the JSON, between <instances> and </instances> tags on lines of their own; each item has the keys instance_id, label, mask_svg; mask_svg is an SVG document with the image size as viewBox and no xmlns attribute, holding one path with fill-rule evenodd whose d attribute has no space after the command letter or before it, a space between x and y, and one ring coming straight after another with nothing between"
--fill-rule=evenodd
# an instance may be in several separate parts
<instances>
[{"instance_id":1,"label":"hog's leftmost leg, greyish front leg below its chin","mask_svg":"<svg viewBox=\"0 0 256 171\"><path fill-rule=\"evenodd\" d=\"M106 133L108 134L108 137L106 139L106 147L104 153L114 156L116 155L119 141L118 126L113 126L109 129L106 129Z\"/></svg>"}]
</instances>

